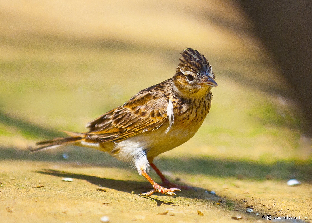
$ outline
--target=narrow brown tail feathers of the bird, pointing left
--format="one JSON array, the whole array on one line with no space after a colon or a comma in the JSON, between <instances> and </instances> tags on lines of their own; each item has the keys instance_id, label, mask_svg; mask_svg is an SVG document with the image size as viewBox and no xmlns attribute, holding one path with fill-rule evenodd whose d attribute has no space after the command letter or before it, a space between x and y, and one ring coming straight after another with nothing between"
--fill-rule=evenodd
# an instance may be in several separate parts
<instances>
[{"instance_id":1,"label":"narrow brown tail feathers of the bird, pointing left","mask_svg":"<svg viewBox=\"0 0 312 223\"><path fill-rule=\"evenodd\" d=\"M31 148L30 153L36 153L38 151L43 151L46 149L55 149L66 144L77 143L83 139L83 137L81 137L81 133L71 133L71 132L66 132L66 133L69 134L70 137L54 138L51 140L46 140L46 141L41 141L41 142L36 143L37 147Z\"/></svg>"}]
</instances>

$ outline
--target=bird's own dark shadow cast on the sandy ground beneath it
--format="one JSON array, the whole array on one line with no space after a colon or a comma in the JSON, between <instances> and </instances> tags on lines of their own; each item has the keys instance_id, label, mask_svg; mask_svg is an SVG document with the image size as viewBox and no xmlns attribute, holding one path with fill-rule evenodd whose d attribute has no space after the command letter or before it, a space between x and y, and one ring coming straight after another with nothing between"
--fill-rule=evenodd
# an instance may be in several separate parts
<instances>
[{"instance_id":1,"label":"bird's own dark shadow cast on the sandy ground beneath it","mask_svg":"<svg viewBox=\"0 0 312 223\"><path fill-rule=\"evenodd\" d=\"M142 181L133 181L133 180L116 180L116 179L110 179L110 178L104 178L104 177L97 177L97 176L90 176L85 174L78 174L78 173L72 173L72 172L65 172L65 171L59 171L59 170L53 170L53 169L43 169L42 171L36 171L40 174L46 174L51 175L55 177L69 177L74 179L80 179L85 180L87 182L90 182L94 185L110 188L117 191L124 191L127 193L133 193L137 194L138 196L141 196L140 193L150 191L153 189L153 187L149 184L149 182L142 182ZM186 186L181 184L181 186ZM207 191L207 190L206 190ZM205 189L200 187L194 187L193 189L189 190L182 190L178 191L178 196L186 197L186 198L204 198L209 199L209 196L207 197L207 193L205 193ZM157 193L157 197L166 196L160 193ZM156 199L153 197L147 197L142 196L150 200L154 200L157 203L157 206L160 206L161 204L166 205L174 205L174 202L171 201L162 201L159 199ZM210 195L211 200L216 200L217 195Z\"/></svg>"}]
</instances>

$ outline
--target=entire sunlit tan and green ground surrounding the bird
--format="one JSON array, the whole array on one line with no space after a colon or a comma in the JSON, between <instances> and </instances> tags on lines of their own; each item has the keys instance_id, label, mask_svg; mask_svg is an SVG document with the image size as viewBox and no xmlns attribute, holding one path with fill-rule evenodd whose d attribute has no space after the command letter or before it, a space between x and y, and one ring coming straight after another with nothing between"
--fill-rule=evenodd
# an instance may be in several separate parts
<instances>
[{"instance_id":1,"label":"entire sunlit tan and green ground surrounding the bird","mask_svg":"<svg viewBox=\"0 0 312 223\"><path fill-rule=\"evenodd\" d=\"M0 29L2 222L311 222L305 120L235 1L1 1ZM186 47L219 86L197 134L155 164L194 189L140 196L149 183L106 153L28 153L172 77Z\"/></svg>"}]
</instances>

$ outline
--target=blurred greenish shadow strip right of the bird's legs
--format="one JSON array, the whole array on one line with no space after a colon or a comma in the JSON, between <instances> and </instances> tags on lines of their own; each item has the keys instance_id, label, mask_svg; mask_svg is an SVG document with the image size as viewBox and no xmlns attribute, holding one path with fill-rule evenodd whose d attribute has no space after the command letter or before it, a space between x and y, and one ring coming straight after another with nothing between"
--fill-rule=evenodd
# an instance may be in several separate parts
<instances>
[{"instance_id":1,"label":"blurred greenish shadow strip right of the bird's legs","mask_svg":"<svg viewBox=\"0 0 312 223\"><path fill-rule=\"evenodd\" d=\"M179 174L203 174L214 177L234 177L264 181L266 179L287 180L296 177L312 183L312 166L296 160L276 160L271 164L247 159L229 160L213 157L191 157L155 159L163 170Z\"/></svg>"}]
</instances>

